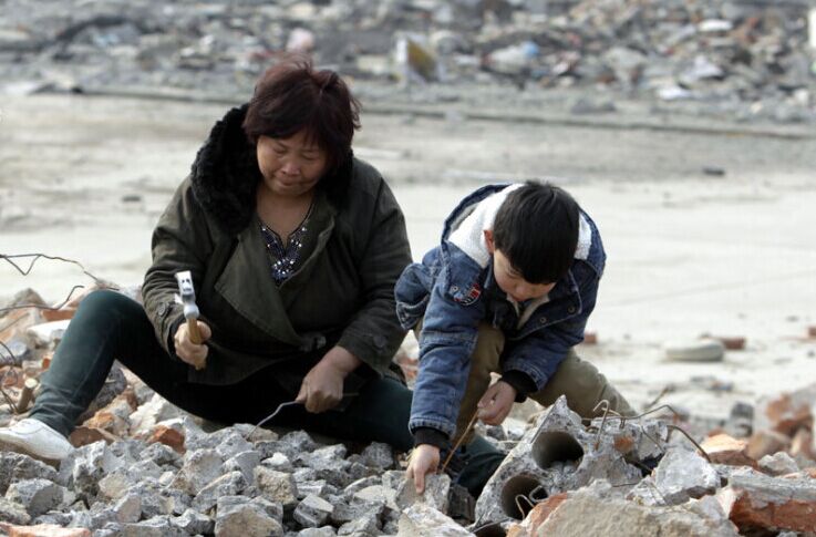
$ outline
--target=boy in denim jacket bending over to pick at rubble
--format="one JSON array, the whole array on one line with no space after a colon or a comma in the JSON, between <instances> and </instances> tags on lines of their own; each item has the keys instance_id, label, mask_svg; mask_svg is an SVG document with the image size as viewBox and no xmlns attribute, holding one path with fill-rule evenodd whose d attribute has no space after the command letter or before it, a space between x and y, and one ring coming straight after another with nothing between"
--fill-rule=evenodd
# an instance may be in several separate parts
<instances>
[{"instance_id":1,"label":"boy in denim jacket bending over to pick at rubble","mask_svg":"<svg viewBox=\"0 0 816 537\"><path fill-rule=\"evenodd\" d=\"M514 402L549 405L565 394L582 416L601 400L632 413L571 351L583 340L605 260L598 229L572 197L528 182L467 196L445 221L442 244L403 271L397 316L404 328L421 329L407 468L417 492L440 448L477 411L498 425ZM494 371L502 378L489 385Z\"/></svg>"}]
</instances>

